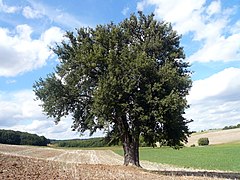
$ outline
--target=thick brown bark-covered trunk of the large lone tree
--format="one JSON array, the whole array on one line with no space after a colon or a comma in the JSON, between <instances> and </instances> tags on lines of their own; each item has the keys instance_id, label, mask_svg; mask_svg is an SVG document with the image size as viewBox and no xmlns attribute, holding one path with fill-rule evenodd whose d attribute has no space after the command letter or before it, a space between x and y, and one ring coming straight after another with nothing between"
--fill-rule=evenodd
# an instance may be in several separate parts
<instances>
[{"instance_id":1,"label":"thick brown bark-covered trunk of the large lone tree","mask_svg":"<svg viewBox=\"0 0 240 180\"><path fill-rule=\"evenodd\" d=\"M140 166L139 162L139 135L133 137L129 133L123 135L124 165Z\"/></svg>"}]
</instances>

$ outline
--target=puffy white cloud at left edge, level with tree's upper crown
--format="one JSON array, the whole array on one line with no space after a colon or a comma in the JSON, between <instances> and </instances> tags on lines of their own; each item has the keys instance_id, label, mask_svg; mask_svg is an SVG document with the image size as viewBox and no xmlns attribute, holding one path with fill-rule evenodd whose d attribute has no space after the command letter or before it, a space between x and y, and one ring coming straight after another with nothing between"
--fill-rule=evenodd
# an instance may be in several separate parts
<instances>
[{"instance_id":1,"label":"puffy white cloud at left edge, level with tree's upper crown","mask_svg":"<svg viewBox=\"0 0 240 180\"><path fill-rule=\"evenodd\" d=\"M0 76L10 77L45 65L52 52L49 45L62 40L60 28L51 27L39 39L31 37L29 25L18 25L15 31L0 28Z\"/></svg>"}]
</instances>

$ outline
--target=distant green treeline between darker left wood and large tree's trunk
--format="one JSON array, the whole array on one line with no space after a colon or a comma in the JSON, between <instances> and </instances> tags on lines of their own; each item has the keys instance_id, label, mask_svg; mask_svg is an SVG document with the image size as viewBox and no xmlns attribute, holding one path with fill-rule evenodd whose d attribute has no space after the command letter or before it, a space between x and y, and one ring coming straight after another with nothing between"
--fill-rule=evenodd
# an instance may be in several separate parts
<instances>
[{"instance_id":1,"label":"distant green treeline between darker left wood and large tree's trunk","mask_svg":"<svg viewBox=\"0 0 240 180\"><path fill-rule=\"evenodd\" d=\"M90 139L51 140L58 147L105 147L108 146L104 137Z\"/></svg>"}]
</instances>

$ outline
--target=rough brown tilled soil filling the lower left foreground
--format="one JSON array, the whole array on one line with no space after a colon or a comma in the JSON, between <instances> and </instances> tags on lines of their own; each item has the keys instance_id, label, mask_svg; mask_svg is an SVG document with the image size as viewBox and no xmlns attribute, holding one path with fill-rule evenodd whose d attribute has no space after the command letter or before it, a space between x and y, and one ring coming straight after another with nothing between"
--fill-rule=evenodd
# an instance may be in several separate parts
<instances>
[{"instance_id":1,"label":"rough brown tilled soil filling the lower left foreground","mask_svg":"<svg viewBox=\"0 0 240 180\"><path fill-rule=\"evenodd\" d=\"M64 163L0 154L1 179L158 179L161 176L124 166Z\"/></svg>"}]
</instances>

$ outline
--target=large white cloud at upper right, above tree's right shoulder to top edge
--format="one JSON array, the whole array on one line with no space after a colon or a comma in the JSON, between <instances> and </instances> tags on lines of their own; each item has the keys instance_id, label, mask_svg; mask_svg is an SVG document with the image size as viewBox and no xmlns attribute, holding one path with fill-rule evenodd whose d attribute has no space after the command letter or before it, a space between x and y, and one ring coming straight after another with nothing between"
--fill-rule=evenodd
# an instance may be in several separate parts
<instances>
[{"instance_id":1,"label":"large white cloud at upper right, above tree's right shoulder to top edge","mask_svg":"<svg viewBox=\"0 0 240 180\"><path fill-rule=\"evenodd\" d=\"M174 28L183 35L193 33L193 41L202 44L192 54L190 62L240 60L239 22L234 22L234 8L223 8L220 0L143 0L137 8L144 10L155 7L155 15L173 23ZM230 24L231 22L231 24Z\"/></svg>"}]
</instances>

